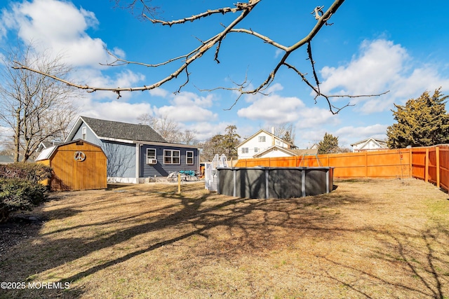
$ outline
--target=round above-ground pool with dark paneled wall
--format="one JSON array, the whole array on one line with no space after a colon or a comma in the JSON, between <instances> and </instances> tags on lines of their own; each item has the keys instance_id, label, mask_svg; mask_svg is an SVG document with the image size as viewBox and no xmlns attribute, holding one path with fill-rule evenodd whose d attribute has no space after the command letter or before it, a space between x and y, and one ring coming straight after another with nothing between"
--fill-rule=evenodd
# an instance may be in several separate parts
<instances>
[{"instance_id":1,"label":"round above-ground pool with dark paneled wall","mask_svg":"<svg viewBox=\"0 0 449 299\"><path fill-rule=\"evenodd\" d=\"M290 198L330 193L333 167L218 168L217 193L246 198Z\"/></svg>"}]
</instances>

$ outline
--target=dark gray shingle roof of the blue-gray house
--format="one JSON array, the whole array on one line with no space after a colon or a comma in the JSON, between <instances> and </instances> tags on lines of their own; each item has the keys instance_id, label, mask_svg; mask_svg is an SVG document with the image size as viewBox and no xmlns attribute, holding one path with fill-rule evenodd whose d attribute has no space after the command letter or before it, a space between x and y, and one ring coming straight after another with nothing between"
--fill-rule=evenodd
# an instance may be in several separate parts
<instances>
[{"instance_id":1,"label":"dark gray shingle roof of the blue-gray house","mask_svg":"<svg viewBox=\"0 0 449 299\"><path fill-rule=\"evenodd\" d=\"M126 139L135 141L167 142L149 125L120 123L112 120L100 120L81 116L98 137Z\"/></svg>"}]
</instances>

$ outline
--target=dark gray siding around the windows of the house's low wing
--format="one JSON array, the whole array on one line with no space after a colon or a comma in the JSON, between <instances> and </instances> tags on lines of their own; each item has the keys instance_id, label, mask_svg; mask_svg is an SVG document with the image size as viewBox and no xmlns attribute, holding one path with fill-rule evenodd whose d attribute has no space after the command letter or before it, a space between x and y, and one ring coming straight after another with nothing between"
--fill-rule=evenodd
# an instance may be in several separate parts
<instances>
[{"instance_id":1,"label":"dark gray siding around the windows of the house's low wing","mask_svg":"<svg viewBox=\"0 0 449 299\"><path fill-rule=\"evenodd\" d=\"M156 149L156 165L147 164L147 148ZM180 151L180 164L170 165L163 163L163 150L179 150ZM186 153L187 151L194 152L194 164L187 165ZM181 148L176 146L152 146L151 144L145 144L140 146L140 174L141 178L154 177L154 176L168 176L170 172L180 171L180 170L194 170L199 169L199 151L198 148Z\"/></svg>"}]
</instances>

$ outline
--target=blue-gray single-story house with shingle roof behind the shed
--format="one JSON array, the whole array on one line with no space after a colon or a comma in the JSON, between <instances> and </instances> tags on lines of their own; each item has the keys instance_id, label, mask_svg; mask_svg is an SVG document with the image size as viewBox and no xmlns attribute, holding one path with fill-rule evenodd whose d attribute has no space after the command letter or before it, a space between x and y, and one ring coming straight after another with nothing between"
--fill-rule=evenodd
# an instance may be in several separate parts
<instances>
[{"instance_id":1,"label":"blue-gray single-story house with shingle roof behind the shed","mask_svg":"<svg viewBox=\"0 0 449 299\"><path fill-rule=\"evenodd\" d=\"M119 123L79 116L65 140L83 139L101 146L107 155L107 179L143 183L180 170L199 170L199 150L170 144L148 125Z\"/></svg>"}]
</instances>

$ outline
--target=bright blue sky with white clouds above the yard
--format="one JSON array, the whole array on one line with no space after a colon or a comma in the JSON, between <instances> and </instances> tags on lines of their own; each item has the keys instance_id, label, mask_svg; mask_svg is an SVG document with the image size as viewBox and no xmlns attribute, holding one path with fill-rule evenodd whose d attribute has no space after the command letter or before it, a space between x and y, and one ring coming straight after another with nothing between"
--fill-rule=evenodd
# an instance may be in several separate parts
<instances>
[{"instance_id":1,"label":"bright blue sky with white clouds above the yard","mask_svg":"<svg viewBox=\"0 0 449 299\"><path fill-rule=\"evenodd\" d=\"M214 15L185 25L163 27L142 22L128 11L114 9L114 1L1 1L0 44L33 41L38 50L64 55L76 71L74 81L110 87L149 85L170 74L179 64L150 69L138 66L105 67L112 61L111 50L127 60L158 63L184 55L206 40L235 15ZM180 19L206 9L233 6L235 1L158 1L159 18ZM328 8L329 0L267 1L256 6L239 27L253 29L290 46L302 39L315 20L315 6ZM315 104L311 90L288 69L282 69L269 87L269 95L241 97L229 90L246 77L259 85L279 60L279 51L254 36L227 36L220 50L220 64L210 53L189 67L189 83L175 95L185 76L145 92L86 93L76 99L80 115L138 123L138 116L150 113L167 116L180 127L196 130L199 140L223 133L236 125L241 137L261 128L284 123L295 127L295 144L306 148L322 139L325 132L339 137L349 147L368 137L386 138L394 123L394 103L419 97L441 87L449 93L449 1L347 0L312 42L321 90L328 94L366 95L390 90L382 97L335 99L336 106L349 106L337 115L328 111L323 99ZM311 74L306 50L289 57L303 73ZM309 79L311 77L309 76Z\"/></svg>"}]
</instances>

